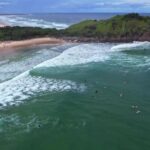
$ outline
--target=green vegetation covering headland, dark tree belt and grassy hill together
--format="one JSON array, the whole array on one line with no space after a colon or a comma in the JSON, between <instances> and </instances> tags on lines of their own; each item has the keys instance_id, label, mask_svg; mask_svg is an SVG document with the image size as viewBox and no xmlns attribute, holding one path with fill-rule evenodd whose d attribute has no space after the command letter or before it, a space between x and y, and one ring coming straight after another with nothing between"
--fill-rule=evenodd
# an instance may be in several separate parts
<instances>
[{"instance_id":1,"label":"green vegetation covering headland, dark tree belt and grassy hill together","mask_svg":"<svg viewBox=\"0 0 150 150\"><path fill-rule=\"evenodd\" d=\"M0 40L19 40L43 36L95 39L97 41L150 41L150 17L132 13L108 20L86 20L66 30L32 27L6 27L0 29Z\"/></svg>"}]
</instances>

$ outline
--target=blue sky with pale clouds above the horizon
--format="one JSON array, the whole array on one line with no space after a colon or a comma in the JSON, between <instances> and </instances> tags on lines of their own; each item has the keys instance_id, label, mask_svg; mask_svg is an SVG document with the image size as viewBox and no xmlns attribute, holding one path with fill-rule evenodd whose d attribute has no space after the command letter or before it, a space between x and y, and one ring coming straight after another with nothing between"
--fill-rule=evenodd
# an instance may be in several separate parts
<instances>
[{"instance_id":1,"label":"blue sky with pale clouds above the horizon","mask_svg":"<svg viewBox=\"0 0 150 150\"><path fill-rule=\"evenodd\" d=\"M0 13L150 12L150 0L0 0Z\"/></svg>"}]
</instances>

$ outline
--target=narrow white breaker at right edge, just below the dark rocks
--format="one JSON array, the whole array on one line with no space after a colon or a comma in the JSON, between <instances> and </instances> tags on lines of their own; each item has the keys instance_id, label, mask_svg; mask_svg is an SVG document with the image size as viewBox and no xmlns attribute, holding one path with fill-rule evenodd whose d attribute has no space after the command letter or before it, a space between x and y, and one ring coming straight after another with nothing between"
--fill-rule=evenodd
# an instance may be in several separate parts
<instances>
[{"instance_id":1,"label":"narrow white breaker at right edge, just below the dark rocks","mask_svg":"<svg viewBox=\"0 0 150 150\"><path fill-rule=\"evenodd\" d=\"M127 44L119 44L117 46L113 46L111 48L111 51L124 51L133 49L150 49L150 42L133 42Z\"/></svg>"}]
</instances>

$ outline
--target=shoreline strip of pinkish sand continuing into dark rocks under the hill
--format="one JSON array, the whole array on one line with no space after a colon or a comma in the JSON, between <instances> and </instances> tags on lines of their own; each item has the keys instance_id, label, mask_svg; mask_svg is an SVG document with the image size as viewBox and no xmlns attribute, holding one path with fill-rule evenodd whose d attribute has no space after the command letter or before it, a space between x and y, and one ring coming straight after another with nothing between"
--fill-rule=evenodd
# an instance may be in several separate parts
<instances>
[{"instance_id":1,"label":"shoreline strip of pinkish sand continuing into dark rocks under the hill","mask_svg":"<svg viewBox=\"0 0 150 150\"><path fill-rule=\"evenodd\" d=\"M146 39L96 39L96 38L79 38L79 37L41 37L41 38L32 38L25 39L19 41L0 41L0 50L11 50L11 49L19 49L19 48L28 48L40 45L56 45L56 44L64 44L64 43L129 43L129 42L144 42L150 41Z\"/></svg>"}]
</instances>

